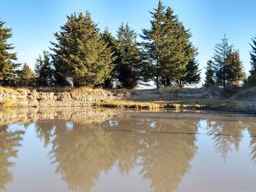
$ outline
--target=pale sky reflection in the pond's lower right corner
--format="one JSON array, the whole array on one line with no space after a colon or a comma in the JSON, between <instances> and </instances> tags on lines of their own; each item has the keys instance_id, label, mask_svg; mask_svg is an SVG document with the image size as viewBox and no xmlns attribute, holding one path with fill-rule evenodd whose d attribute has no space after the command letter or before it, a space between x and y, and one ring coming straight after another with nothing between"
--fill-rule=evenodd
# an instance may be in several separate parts
<instances>
[{"instance_id":1,"label":"pale sky reflection in the pond's lower right corner","mask_svg":"<svg viewBox=\"0 0 256 192\"><path fill-rule=\"evenodd\" d=\"M244 131L239 151L232 146L224 161L213 140L205 134L197 137L197 155L178 191L255 191L256 164L249 157L249 142L249 133Z\"/></svg>"}]
</instances>

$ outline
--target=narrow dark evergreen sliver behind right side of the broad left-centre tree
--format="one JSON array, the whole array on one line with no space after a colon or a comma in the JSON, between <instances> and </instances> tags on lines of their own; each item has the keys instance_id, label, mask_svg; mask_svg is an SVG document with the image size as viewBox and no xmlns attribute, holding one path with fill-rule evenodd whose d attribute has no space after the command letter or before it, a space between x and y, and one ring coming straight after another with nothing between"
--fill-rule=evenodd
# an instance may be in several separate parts
<instances>
[{"instance_id":1,"label":"narrow dark evergreen sliver behind right side of the broad left-centre tree","mask_svg":"<svg viewBox=\"0 0 256 192\"><path fill-rule=\"evenodd\" d=\"M118 42L110 31L108 31L108 28L102 33L102 39L108 44L108 48L110 48L113 53L113 70L110 72L110 76L105 78L104 88L113 88L113 82L115 82L117 78L117 64L120 62Z\"/></svg>"}]
</instances>

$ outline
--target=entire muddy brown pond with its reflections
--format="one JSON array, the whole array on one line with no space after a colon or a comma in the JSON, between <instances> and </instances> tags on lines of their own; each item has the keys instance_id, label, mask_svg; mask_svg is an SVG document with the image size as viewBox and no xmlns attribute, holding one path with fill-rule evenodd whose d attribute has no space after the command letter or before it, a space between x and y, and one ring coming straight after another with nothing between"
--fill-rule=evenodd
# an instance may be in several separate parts
<instances>
[{"instance_id":1,"label":"entire muddy brown pond with its reflections","mask_svg":"<svg viewBox=\"0 0 256 192\"><path fill-rule=\"evenodd\" d=\"M0 113L0 191L256 191L256 118Z\"/></svg>"}]
</instances>

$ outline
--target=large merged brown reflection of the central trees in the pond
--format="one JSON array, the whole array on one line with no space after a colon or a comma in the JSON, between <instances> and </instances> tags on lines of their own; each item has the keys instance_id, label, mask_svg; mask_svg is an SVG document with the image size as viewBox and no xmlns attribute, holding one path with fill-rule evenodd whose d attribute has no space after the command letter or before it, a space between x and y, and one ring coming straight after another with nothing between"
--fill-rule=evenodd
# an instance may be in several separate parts
<instances>
[{"instance_id":1,"label":"large merged brown reflection of the central trees in the pond","mask_svg":"<svg viewBox=\"0 0 256 192\"><path fill-rule=\"evenodd\" d=\"M198 122L117 118L70 125L65 120L54 120L50 156L58 164L56 172L72 191L90 191L100 173L108 173L115 164L121 174L140 166L140 174L151 181L154 191L173 191L190 169L189 162L197 150L196 134L167 132L186 129L196 133ZM48 126L40 131L43 123L37 125L39 137L50 141Z\"/></svg>"}]
</instances>

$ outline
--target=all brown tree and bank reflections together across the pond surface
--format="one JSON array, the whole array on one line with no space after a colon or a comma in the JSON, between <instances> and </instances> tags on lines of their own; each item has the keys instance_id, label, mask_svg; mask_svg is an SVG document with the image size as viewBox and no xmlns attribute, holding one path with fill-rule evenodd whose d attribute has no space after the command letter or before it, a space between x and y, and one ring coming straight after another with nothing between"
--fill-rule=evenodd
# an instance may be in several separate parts
<instances>
[{"instance_id":1,"label":"all brown tree and bank reflections together across the pond surface","mask_svg":"<svg viewBox=\"0 0 256 192\"><path fill-rule=\"evenodd\" d=\"M121 174L140 167L152 191L175 191L192 169L201 129L224 161L232 150L239 150L248 131L250 155L256 161L254 118L73 108L1 112L0 120L0 188L12 181L10 158L17 155L24 133L8 128L16 122L35 123L37 137L51 147L55 172L71 191L91 191L101 173L108 174L115 165Z\"/></svg>"}]
</instances>

